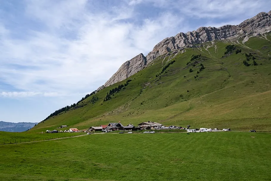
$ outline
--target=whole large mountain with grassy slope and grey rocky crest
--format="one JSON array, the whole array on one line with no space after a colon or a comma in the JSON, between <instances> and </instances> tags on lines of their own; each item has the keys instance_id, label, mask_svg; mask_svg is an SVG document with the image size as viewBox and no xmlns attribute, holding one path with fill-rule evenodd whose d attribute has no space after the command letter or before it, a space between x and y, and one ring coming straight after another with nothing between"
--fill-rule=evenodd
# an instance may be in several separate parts
<instances>
[{"instance_id":1,"label":"whole large mountain with grassy slope and grey rocky crest","mask_svg":"<svg viewBox=\"0 0 271 181\"><path fill-rule=\"evenodd\" d=\"M139 54L127 61L107 84L29 132L119 121L270 132L269 19L270 12L259 13L236 26L199 28L166 38L148 54L152 56Z\"/></svg>"}]
</instances>

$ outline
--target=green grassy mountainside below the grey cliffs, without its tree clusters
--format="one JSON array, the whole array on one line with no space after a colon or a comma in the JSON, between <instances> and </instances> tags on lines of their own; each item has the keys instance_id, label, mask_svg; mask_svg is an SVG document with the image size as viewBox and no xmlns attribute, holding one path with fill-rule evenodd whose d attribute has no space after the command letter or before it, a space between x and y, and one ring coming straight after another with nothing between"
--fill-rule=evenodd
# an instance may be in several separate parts
<instances>
[{"instance_id":1,"label":"green grassy mountainside below the grey cliffs, without its tree clusters","mask_svg":"<svg viewBox=\"0 0 271 181\"><path fill-rule=\"evenodd\" d=\"M230 43L236 44L242 52L222 58L225 46ZM110 89L125 81L96 93L99 97L96 103L90 102L90 96L80 103L83 107L39 123L30 132L55 129L60 125L86 129L109 122L136 125L147 120L165 125L270 131L270 49L271 41L262 37L250 38L244 44L242 41L208 42L201 47L187 48L186 52L175 56L172 60L176 62L159 79L155 75L169 59L161 56L155 64L131 76L132 81L126 89L116 93L111 100L103 101ZM252 53L258 66L244 66L244 53ZM186 67L193 54L202 54L205 59L202 61L205 69L196 79L199 64ZM194 71L189 73L189 68Z\"/></svg>"}]
</instances>

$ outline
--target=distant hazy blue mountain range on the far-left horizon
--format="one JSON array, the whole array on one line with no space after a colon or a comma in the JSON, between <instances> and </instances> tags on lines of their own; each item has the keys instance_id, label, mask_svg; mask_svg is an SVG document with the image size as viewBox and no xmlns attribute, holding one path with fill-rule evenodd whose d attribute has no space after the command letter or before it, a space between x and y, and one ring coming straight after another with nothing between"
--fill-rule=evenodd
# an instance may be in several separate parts
<instances>
[{"instance_id":1,"label":"distant hazy blue mountain range on the far-left horizon","mask_svg":"<svg viewBox=\"0 0 271 181\"><path fill-rule=\"evenodd\" d=\"M5 132L24 132L28 129L32 128L38 123L10 123L10 122L4 122L0 121L0 131Z\"/></svg>"}]
</instances>

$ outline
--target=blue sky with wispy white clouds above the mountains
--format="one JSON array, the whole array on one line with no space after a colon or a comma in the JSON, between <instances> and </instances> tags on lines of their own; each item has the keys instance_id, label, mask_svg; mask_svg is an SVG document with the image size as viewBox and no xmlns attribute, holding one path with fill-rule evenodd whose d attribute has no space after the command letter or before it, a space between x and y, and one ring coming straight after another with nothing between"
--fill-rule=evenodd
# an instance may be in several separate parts
<instances>
[{"instance_id":1,"label":"blue sky with wispy white clouds above the mountains","mask_svg":"<svg viewBox=\"0 0 271 181\"><path fill-rule=\"evenodd\" d=\"M270 10L270 0L0 1L0 120L40 122L166 37Z\"/></svg>"}]
</instances>

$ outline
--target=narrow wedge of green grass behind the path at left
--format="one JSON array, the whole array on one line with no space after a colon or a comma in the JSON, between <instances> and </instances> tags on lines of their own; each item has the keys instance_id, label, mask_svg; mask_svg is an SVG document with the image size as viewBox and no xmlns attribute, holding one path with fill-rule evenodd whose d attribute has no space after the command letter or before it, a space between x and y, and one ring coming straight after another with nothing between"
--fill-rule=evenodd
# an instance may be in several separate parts
<instances>
[{"instance_id":1,"label":"narrow wedge of green grass behind the path at left","mask_svg":"<svg viewBox=\"0 0 271 181\"><path fill-rule=\"evenodd\" d=\"M0 144L11 144L11 143L24 143L32 141L52 140L55 138L64 138L78 136L86 133L18 133L18 132L0 132Z\"/></svg>"}]
</instances>

